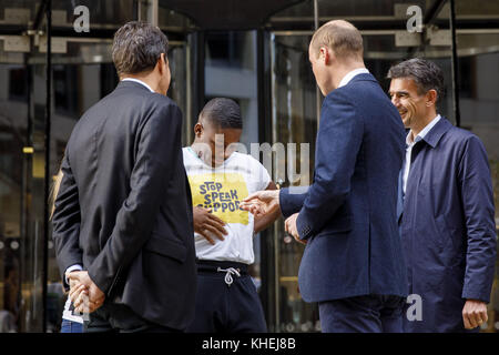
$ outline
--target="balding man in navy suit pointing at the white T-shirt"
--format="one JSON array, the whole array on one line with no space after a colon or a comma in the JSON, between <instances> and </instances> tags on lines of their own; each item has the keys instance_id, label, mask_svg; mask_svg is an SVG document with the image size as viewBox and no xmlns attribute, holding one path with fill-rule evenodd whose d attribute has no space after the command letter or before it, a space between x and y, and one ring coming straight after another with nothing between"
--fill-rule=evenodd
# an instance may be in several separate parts
<instances>
[{"instance_id":1,"label":"balding man in navy suit pointing at the white T-shirt","mask_svg":"<svg viewBox=\"0 0 499 355\"><path fill-rule=\"evenodd\" d=\"M346 21L319 28L309 60L322 93L315 175L306 193L258 192L244 207L278 206L286 231L306 244L298 273L318 302L323 332L401 332L406 270L396 223L404 126L363 61Z\"/></svg>"}]
</instances>

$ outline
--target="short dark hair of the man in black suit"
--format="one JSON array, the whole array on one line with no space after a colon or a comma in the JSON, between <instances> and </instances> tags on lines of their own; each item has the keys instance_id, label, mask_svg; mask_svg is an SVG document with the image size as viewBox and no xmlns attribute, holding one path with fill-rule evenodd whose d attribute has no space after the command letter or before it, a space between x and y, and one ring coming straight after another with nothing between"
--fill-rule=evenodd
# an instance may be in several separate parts
<instances>
[{"instance_id":1,"label":"short dark hair of the man in black suit","mask_svg":"<svg viewBox=\"0 0 499 355\"><path fill-rule=\"evenodd\" d=\"M167 51L167 37L151 23L131 21L114 33L113 62L119 75L151 71L161 53L166 59Z\"/></svg>"}]
</instances>

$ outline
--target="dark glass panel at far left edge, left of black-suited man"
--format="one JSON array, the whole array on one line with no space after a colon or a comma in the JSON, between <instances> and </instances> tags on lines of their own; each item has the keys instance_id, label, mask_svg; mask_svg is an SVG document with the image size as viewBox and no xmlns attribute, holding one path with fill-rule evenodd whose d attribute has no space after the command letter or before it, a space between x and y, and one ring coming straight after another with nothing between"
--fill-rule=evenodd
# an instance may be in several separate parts
<instances>
[{"instance_id":1,"label":"dark glass panel at far left edge, left of black-suited man","mask_svg":"<svg viewBox=\"0 0 499 355\"><path fill-rule=\"evenodd\" d=\"M43 54L0 49L0 329L43 324L45 73ZM0 41L2 42L2 41Z\"/></svg>"}]
</instances>

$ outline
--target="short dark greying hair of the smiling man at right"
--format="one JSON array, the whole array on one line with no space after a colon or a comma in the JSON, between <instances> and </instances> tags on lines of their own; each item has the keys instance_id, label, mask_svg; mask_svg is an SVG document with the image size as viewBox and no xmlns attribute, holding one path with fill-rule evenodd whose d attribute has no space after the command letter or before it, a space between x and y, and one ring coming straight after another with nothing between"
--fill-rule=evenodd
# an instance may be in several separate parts
<instances>
[{"instance_id":1,"label":"short dark greying hair of the smiling man at right","mask_svg":"<svg viewBox=\"0 0 499 355\"><path fill-rule=\"evenodd\" d=\"M446 94L444 72L434 62L420 58L406 60L394 65L388 71L388 79L410 78L418 87L418 93L425 94L429 90L437 91L437 102Z\"/></svg>"}]
</instances>

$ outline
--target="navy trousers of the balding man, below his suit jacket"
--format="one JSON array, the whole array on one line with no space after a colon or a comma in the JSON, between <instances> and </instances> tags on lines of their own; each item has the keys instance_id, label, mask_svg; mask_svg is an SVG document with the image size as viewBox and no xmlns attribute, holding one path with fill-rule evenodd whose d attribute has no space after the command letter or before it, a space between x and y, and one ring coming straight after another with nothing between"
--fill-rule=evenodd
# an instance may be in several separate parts
<instances>
[{"instance_id":1,"label":"navy trousers of the balding man, below his suit jacket","mask_svg":"<svg viewBox=\"0 0 499 355\"><path fill-rule=\"evenodd\" d=\"M367 295L319 303L323 333L401 332L404 298Z\"/></svg>"}]
</instances>

